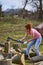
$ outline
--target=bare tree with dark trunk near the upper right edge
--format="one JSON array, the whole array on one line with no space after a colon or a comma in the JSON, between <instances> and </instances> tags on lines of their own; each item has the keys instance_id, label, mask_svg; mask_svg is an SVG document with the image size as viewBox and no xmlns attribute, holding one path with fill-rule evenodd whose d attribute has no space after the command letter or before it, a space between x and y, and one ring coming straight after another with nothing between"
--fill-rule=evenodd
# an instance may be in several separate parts
<instances>
[{"instance_id":1,"label":"bare tree with dark trunk near the upper right edge","mask_svg":"<svg viewBox=\"0 0 43 65\"><path fill-rule=\"evenodd\" d=\"M32 0L32 6L37 8L37 12L39 12L39 19L42 20L42 0Z\"/></svg>"}]
</instances>

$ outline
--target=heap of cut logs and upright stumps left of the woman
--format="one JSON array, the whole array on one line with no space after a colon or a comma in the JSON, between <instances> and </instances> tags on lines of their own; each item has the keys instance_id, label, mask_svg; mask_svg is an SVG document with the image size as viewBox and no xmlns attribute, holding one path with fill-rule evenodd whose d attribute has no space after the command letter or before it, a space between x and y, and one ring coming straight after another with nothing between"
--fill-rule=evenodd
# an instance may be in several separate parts
<instances>
[{"instance_id":1,"label":"heap of cut logs and upright stumps left of the woman","mask_svg":"<svg viewBox=\"0 0 43 65\"><path fill-rule=\"evenodd\" d=\"M24 54L21 54L20 52L18 52L18 51L20 51L20 50L17 50L19 48L18 44L14 44L13 46L14 46L13 47L14 52L12 55L12 52L10 51L11 50L10 41L9 40L6 41L5 46L3 46L4 47L4 52L3 52L4 60L3 59L0 60L0 65L12 65L12 62L16 63L16 64L18 63L21 65L25 65L25 56L24 56ZM17 52L15 52L15 51L17 51Z\"/></svg>"}]
</instances>

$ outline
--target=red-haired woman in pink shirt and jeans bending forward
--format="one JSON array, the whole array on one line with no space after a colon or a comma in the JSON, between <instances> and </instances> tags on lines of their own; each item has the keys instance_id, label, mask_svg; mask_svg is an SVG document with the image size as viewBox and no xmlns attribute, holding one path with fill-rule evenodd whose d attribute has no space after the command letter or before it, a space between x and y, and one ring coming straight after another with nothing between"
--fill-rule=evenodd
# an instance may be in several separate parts
<instances>
[{"instance_id":1,"label":"red-haired woman in pink shirt and jeans bending forward","mask_svg":"<svg viewBox=\"0 0 43 65\"><path fill-rule=\"evenodd\" d=\"M27 40L27 42L24 42L24 43L28 43L26 54L25 54L26 59L29 56L29 51L30 51L31 46L33 46L33 45L34 45L35 53L37 55L39 55L38 47L39 47L41 40L42 40L41 34L36 29L32 28L32 23L25 25L25 35L19 41L24 40L28 35L30 35L32 38L30 40Z\"/></svg>"}]
</instances>

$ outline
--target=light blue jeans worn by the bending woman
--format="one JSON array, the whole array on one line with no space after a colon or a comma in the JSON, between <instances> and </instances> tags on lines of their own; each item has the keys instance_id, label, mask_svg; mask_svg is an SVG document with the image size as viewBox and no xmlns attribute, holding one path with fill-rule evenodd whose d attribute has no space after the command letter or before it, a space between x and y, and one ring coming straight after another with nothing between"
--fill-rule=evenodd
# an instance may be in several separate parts
<instances>
[{"instance_id":1,"label":"light blue jeans worn by the bending woman","mask_svg":"<svg viewBox=\"0 0 43 65\"><path fill-rule=\"evenodd\" d=\"M37 55L39 55L38 47L41 44L41 40L42 40L42 37L37 38L36 40L32 40L31 42L29 42L28 45L27 45L26 55L29 55L30 48L33 45L34 45L34 51L35 51L35 53Z\"/></svg>"}]
</instances>

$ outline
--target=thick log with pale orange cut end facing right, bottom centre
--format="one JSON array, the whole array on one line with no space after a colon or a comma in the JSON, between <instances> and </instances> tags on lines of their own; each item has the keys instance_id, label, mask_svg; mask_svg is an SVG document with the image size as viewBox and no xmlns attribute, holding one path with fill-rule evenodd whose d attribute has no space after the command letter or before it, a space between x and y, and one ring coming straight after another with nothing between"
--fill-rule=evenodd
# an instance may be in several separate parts
<instances>
[{"instance_id":1,"label":"thick log with pale orange cut end facing right, bottom centre","mask_svg":"<svg viewBox=\"0 0 43 65\"><path fill-rule=\"evenodd\" d=\"M12 62L16 63L16 64L25 65L25 56L24 56L24 54L14 55L12 57Z\"/></svg>"}]
</instances>

